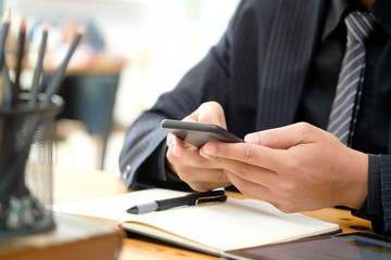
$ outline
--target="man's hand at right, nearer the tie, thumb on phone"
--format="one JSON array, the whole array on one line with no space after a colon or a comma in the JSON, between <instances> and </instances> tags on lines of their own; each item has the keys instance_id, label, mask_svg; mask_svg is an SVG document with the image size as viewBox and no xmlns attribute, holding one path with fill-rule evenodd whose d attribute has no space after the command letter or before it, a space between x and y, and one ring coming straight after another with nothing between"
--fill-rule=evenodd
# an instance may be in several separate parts
<instances>
[{"instance_id":1,"label":"man's hand at right, nearer the tie, thumb on phone","mask_svg":"<svg viewBox=\"0 0 391 260\"><path fill-rule=\"evenodd\" d=\"M308 123L248 134L245 143L207 143L200 153L245 195L285 212L344 205L367 195L367 155Z\"/></svg>"}]
</instances>

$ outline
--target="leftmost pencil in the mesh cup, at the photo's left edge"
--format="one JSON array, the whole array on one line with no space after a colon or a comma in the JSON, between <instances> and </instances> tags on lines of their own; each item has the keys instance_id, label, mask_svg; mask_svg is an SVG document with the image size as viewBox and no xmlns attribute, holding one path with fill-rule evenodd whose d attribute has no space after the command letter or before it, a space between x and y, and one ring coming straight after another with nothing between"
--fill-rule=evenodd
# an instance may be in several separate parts
<instances>
[{"instance_id":1,"label":"leftmost pencil in the mesh cup, at the photo's left edge","mask_svg":"<svg viewBox=\"0 0 391 260\"><path fill-rule=\"evenodd\" d=\"M4 106L11 106L11 100L12 100L10 75L9 75L9 70L5 65L5 56L4 56L5 40L7 40L7 35L8 35L9 28L10 28L10 21L11 21L11 11L8 11L7 14L4 15L2 28L0 31L0 70L1 70L1 74L3 77L2 104Z\"/></svg>"}]
</instances>

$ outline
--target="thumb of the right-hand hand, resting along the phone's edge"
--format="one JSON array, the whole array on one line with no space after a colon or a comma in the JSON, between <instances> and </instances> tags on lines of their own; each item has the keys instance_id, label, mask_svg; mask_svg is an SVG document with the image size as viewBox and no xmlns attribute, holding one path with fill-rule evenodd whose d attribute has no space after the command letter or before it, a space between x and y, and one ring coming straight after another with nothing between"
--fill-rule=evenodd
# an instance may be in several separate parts
<instances>
[{"instance_id":1,"label":"thumb of the right-hand hand, resting along the phone's edge","mask_svg":"<svg viewBox=\"0 0 391 260\"><path fill-rule=\"evenodd\" d=\"M245 143L257 144L270 148L289 148L301 143L312 142L315 127L306 122L289 125L287 127L249 133Z\"/></svg>"}]
</instances>

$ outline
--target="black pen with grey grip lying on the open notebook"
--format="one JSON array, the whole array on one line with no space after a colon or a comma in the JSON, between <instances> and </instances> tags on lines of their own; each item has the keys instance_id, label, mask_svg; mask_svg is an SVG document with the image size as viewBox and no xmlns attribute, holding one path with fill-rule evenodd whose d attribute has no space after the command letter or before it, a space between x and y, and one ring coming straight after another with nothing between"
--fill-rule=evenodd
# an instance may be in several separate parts
<instances>
[{"instance_id":1,"label":"black pen with grey grip lying on the open notebook","mask_svg":"<svg viewBox=\"0 0 391 260\"><path fill-rule=\"evenodd\" d=\"M181 197L167 198L162 200L154 200L152 203L136 205L126 210L128 213L139 214L152 211L160 211L179 206L192 206L203 203L217 203L227 200L224 191L210 191L202 193L193 193Z\"/></svg>"}]
</instances>

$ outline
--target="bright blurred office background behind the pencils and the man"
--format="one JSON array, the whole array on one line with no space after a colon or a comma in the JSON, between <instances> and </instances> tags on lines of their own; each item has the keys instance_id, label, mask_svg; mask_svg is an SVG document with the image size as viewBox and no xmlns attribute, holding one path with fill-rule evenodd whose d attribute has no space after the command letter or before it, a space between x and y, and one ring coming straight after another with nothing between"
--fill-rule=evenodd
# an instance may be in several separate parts
<instances>
[{"instance_id":1,"label":"bright blurred office background behind the pencils and the man","mask_svg":"<svg viewBox=\"0 0 391 260\"><path fill-rule=\"evenodd\" d=\"M126 128L217 43L238 2L0 0L2 16L11 10L9 41L17 39L26 20L23 88L31 82L45 23L50 24L48 74L61 63L80 24L86 30L60 93L66 105L56 123L55 164L119 174Z\"/></svg>"}]
</instances>

